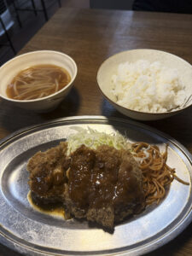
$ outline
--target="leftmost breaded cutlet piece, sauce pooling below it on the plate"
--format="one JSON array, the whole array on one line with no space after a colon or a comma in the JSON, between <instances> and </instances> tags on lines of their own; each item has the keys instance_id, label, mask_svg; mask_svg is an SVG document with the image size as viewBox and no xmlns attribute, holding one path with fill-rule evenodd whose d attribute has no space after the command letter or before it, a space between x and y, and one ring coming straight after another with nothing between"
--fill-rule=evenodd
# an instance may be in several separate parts
<instances>
[{"instance_id":1,"label":"leftmost breaded cutlet piece, sauce pooling below it on the plate","mask_svg":"<svg viewBox=\"0 0 192 256\"><path fill-rule=\"evenodd\" d=\"M35 201L43 204L64 201L69 164L65 142L32 156L27 170L30 173L28 183Z\"/></svg>"}]
</instances>

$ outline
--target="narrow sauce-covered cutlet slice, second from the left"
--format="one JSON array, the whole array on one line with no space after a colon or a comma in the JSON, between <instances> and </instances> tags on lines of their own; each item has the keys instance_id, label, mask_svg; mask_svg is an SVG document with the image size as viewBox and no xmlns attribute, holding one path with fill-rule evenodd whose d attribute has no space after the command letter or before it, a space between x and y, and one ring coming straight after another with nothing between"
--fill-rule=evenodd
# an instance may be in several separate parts
<instances>
[{"instance_id":1,"label":"narrow sauce-covered cutlet slice, second from the left","mask_svg":"<svg viewBox=\"0 0 192 256\"><path fill-rule=\"evenodd\" d=\"M84 145L71 155L68 183L65 190L65 206L76 218L86 218L89 207L91 170L95 165L96 153Z\"/></svg>"}]
</instances>

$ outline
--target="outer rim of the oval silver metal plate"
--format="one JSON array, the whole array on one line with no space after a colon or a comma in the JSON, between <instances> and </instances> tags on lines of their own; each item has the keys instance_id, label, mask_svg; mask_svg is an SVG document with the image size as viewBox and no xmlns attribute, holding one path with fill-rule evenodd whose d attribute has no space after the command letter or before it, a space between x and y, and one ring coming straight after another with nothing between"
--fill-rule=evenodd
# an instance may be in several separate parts
<instances>
[{"instance_id":1,"label":"outer rim of the oval silver metal plate","mask_svg":"<svg viewBox=\"0 0 192 256\"><path fill-rule=\"evenodd\" d=\"M102 121L114 121L114 122L121 122L121 123L125 123L125 124L131 124L131 125L136 125L139 127L142 127L144 129L147 129L148 131L154 132L156 134L158 134L158 136L160 137L165 137L166 139L168 139L169 141L171 141L174 145L176 145L177 148L179 148L183 154L185 154L185 156L188 158L190 164L192 163L192 156L191 154L189 154L188 150L186 148L183 147L182 144L178 143L175 139L173 139L172 137L166 135L165 133L155 130L154 128L149 127L148 125L143 125L140 123L137 123L135 121L132 120L127 120L127 119L118 119L118 118L110 118L108 119L107 117L104 116L78 116L78 117L69 117L69 118L63 118L63 119L54 119L50 122L46 122L44 124L41 125L33 125L30 127L26 127L25 129L21 129L20 131L16 131L14 133L12 133L9 137L5 137L3 140L0 141L0 148L4 148L6 147L6 143L9 143L9 141L11 140L15 140L17 139L18 136L25 134L26 132L30 132L35 128L40 128L46 125L50 125L50 124L57 124L57 123L62 123L62 122L67 122L67 121L80 121L80 120L94 120L94 119L99 119ZM0 150L1 152L1 150ZM153 251L154 249L166 244L168 241L171 241L173 238L175 238L178 234L180 234L186 227L187 225L191 222L192 220L192 211L190 209L190 212L188 213L188 215L184 218L184 220L179 224L177 224L177 228L174 229L174 232L172 232L172 230L170 230L168 233L164 234L164 236L159 237L158 241L153 241L152 243L148 243L145 246L142 247L137 247L134 248L133 250L129 250L129 252L125 251L123 252L123 248L122 251L118 252L111 252L111 255L115 254L121 254L121 255L140 255L143 253L148 253L150 251ZM11 234L6 234L6 231L3 233L2 229L3 227L1 227L0 225L0 241L5 245L8 246L20 253L27 253L27 255L48 255L48 252L44 253L43 251L41 251L40 249L38 249L38 247L35 248L32 245L25 245L22 243L22 241L17 241L11 238ZM109 252L103 252L102 255L108 254ZM52 254L51 250L49 251L49 255L79 255L79 253L75 253L75 252L66 252L64 254ZM84 255L98 255L98 253L85 253Z\"/></svg>"}]
</instances>

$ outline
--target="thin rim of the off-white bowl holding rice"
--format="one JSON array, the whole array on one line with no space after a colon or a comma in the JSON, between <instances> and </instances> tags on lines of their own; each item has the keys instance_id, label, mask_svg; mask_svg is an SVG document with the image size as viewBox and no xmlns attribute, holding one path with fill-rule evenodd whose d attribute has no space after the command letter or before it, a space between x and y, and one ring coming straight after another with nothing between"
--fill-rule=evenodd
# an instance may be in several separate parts
<instances>
[{"instance_id":1,"label":"thin rim of the off-white bowl holding rice","mask_svg":"<svg viewBox=\"0 0 192 256\"><path fill-rule=\"evenodd\" d=\"M96 75L97 84L99 85L99 83L98 83L98 73L99 73L99 71L101 70L102 65L103 65L105 62L107 62L108 60L112 59L112 58L113 58L114 56L116 56L116 55L121 55L121 54L124 54L125 52L128 52L128 51L130 52L130 51L137 51L137 50L138 50L138 51L140 51L140 50L158 51L158 52L160 52L160 53L165 53L165 54L167 54L167 55L172 55L172 56L174 56L174 57L177 57L180 61L185 62L187 65L191 66L191 68L192 68L192 65L191 65L188 61L185 61L185 60L183 60L183 58L181 58L181 57L179 57L179 56L177 56L177 55L173 55L172 53L166 52L166 51L164 51L164 50L160 50L160 49L141 49L141 48L140 48L140 49L128 49L128 50L120 51L120 52L118 52L118 53L116 53L116 54L114 54L114 55L111 55L111 56L108 57L108 59L106 59L105 61L102 62L102 64L100 65L100 67L99 67L99 69L98 69L98 71L97 71L97 75ZM99 89L102 91L100 85L99 85ZM173 110L170 111L170 112L167 112L167 111L166 111L166 112L143 112L143 111L137 111L137 110L134 110L134 109L131 109L131 108L125 108L125 107L119 105L118 103L113 102L111 99L108 98L108 96L107 96L106 94L104 94L103 91L102 91L102 95L105 96L109 102L112 102L113 104L119 106L119 108L124 108L125 110L128 110L128 111L130 111L130 112L132 112L132 113L139 113L139 114L146 114L146 115L152 115L152 114L153 114L153 115L154 115L154 114L158 114L158 115L162 115L162 114L164 114L164 115L169 115L170 113L179 113L179 112L183 111L184 109L189 108L189 107L192 106L192 102L191 102L191 104L190 104L189 106L186 106L186 107L184 107L184 108L179 108L179 109L176 109L176 110L173 109Z\"/></svg>"}]
</instances>

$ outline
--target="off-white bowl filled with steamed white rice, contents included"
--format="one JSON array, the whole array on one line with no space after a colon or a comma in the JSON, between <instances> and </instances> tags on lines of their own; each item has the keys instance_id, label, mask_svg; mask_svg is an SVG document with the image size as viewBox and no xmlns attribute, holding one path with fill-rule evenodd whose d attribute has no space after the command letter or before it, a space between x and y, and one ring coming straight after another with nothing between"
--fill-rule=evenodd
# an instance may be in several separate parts
<instances>
[{"instance_id":1,"label":"off-white bowl filled with steamed white rice, contents included","mask_svg":"<svg viewBox=\"0 0 192 256\"><path fill-rule=\"evenodd\" d=\"M132 119L164 119L192 104L187 101L192 94L192 66L164 51L120 52L102 63L96 79L103 96Z\"/></svg>"}]
</instances>

